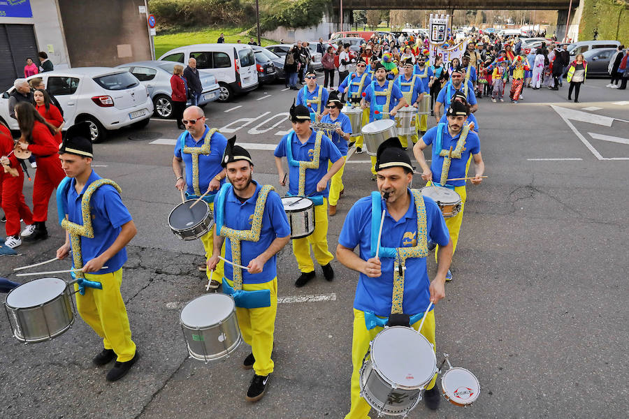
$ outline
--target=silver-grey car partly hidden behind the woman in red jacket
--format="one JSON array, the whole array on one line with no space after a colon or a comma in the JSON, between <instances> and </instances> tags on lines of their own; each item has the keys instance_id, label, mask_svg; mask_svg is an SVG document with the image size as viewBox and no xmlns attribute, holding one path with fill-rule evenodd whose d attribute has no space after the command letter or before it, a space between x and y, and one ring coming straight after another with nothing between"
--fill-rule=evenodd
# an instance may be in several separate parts
<instances>
[{"instance_id":1,"label":"silver-grey car partly hidden behind the woman in red jacket","mask_svg":"<svg viewBox=\"0 0 629 419\"><path fill-rule=\"evenodd\" d=\"M136 61L134 63L122 64L117 66L117 68L124 68L124 70L135 75L149 92L155 108L154 115L168 119L173 116L171 77L177 64L173 61ZM201 73L199 75L203 94L198 105L203 108L208 103L219 98L221 87L216 82L214 75ZM187 105L191 105L191 102L188 101Z\"/></svg>"}]
</instances>

